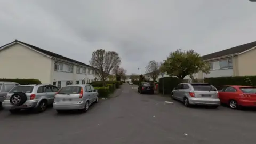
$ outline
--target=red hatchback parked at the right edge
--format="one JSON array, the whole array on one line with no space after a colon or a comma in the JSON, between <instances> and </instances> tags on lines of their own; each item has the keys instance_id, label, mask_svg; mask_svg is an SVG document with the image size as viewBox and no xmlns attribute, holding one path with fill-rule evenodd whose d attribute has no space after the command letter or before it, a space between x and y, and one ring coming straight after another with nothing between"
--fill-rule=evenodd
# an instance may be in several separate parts
<instances>
[{"instance_id":1,"label":"red hatchback parked at the right edge","mask_svg":"<svg viewBox=\"0 0 256 144\"><path fill-rule=\"evenodd\" d=\"M232 109L240 107L256 107L256 87L226 85L217 87L221 103Z\"/></svg>"}]
</instances>

